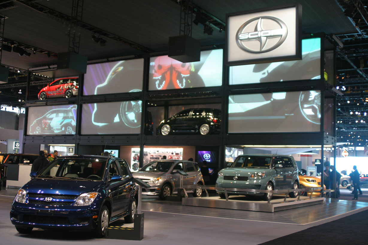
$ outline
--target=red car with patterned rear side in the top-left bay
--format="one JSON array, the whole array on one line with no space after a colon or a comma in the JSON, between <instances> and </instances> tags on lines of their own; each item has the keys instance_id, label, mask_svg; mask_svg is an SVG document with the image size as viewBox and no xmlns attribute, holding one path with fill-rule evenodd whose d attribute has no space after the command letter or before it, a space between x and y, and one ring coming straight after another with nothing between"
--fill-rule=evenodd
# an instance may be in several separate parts
<instances>
[{"instance_id":1,"label":"red car with patterned rear side in the top-left bay","mask_svg":"<svg viewBox=\"0 0 368 245\"><path fill-rule=\"evenodd\" d=\"M38 99L44 100L50 97L66 97L78 95L78 78L59 78L41 89Z\"/></svg>"}]
</instances>

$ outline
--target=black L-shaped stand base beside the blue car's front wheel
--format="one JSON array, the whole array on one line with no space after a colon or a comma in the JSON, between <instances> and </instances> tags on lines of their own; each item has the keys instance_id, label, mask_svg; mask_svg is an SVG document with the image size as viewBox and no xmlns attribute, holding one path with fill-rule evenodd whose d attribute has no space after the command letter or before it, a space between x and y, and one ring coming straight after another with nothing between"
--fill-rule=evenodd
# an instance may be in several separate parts
<instances>
[{"instance_id":1,"label":"black L-shaped stand base beside the blue car's front wheel","mask_svg":"<svg viewBox=\"0 0 368 245\"><path fill-rule=\"evenodd\" d=\"M142 240L144 229L144 213L134 214L134 227L109 226L105 238L122 240Z\"/></svg>"}]
</instances>

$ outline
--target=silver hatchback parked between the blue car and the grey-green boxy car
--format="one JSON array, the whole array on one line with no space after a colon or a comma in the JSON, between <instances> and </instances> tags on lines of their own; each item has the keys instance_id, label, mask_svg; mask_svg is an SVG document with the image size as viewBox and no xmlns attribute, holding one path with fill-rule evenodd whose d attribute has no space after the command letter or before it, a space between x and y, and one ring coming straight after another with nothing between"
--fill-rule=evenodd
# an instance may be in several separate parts
<instances>
[{"instance_id":1,"label":"silver hatchback parked between the blue car and the grey-green boxy car","mask_svg":"<svg viewBox=\"0 0 368 245\"><path fill-rule=\"evenodd\" d=\"M151 185L150 188L143 188L142 194L159 196L161 200L164 200L165 196L177 193L177 189L180 187L178 170L188 174L183 176L183 185L204 185L202 173L198 164L194 161L171 159L151 161L151 163L142 167L141 170L133 173L133 177L140 178ZM187 191L192 192L196 197L202 195L202 189L200 188Z\"/></svg>"}]
</instances>

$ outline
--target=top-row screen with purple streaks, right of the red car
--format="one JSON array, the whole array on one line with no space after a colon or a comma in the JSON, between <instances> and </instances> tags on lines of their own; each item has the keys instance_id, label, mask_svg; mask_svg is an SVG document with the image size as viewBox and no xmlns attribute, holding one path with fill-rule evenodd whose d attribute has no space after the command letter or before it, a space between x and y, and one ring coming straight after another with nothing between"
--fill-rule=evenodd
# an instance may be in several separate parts
<instances>
[{"instance_id":1,"label":"top-row screen with purple streaks, right of the red car","mask_svg":"<svg viewBox=\"0 0 368 245\"><path fill-rule=\"evenodd\" d=\"M144 59L87 65L83 95L138 92L143 87Z\"/></svg>"}]
</instances>

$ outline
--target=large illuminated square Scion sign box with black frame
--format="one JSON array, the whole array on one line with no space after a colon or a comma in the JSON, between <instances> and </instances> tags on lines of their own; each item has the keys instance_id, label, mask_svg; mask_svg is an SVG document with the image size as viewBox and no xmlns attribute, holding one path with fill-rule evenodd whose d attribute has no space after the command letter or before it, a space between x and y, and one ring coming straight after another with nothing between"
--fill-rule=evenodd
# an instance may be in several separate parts
<instances>
[{"instance_id":1,"label":"large illuminated square Scion sign box with black frame","mask_svg":"<svg viewBox=\"0 0 368 245\"><path fill-rule=\"evenodd\" d=\"M300 4L226 14L227 65L301 59Z\"/></svg>"}]
</instances>

